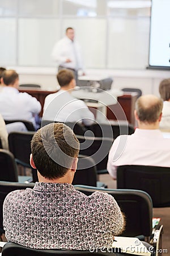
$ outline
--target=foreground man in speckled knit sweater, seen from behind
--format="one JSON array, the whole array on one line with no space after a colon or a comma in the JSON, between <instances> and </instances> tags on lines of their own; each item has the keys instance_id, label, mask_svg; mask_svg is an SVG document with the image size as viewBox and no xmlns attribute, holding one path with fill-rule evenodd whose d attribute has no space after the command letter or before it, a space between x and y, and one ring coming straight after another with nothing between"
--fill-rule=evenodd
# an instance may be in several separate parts
<instances>
[{"instance_id":1,"label":"foreground man in speckled knit sweater, seen from behind","mask_svg":"<svg viewBox=\"0 0 170 256\"><path fill-rule=\"evenodd\" d=\"M33 136L31 148L39 182L7 195L7 240L35 249L111 247L113 236L124 228L124 217L111 195L86 196L71 185L79 153L73 131L62 123L46 125Z\"/></svg>"}]
</instances>

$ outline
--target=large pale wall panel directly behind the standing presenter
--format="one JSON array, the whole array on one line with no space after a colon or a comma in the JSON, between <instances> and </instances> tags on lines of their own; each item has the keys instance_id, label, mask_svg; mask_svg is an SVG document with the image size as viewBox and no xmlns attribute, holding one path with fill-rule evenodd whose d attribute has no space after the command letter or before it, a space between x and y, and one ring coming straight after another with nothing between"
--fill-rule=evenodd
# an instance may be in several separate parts
<instances>
[{"instance_id":1,"label":"large pale wall panel directly behind the standing presenter","mask_svg":"<svg viewBox=\"0 0 170 256\"><path fill-rule=\"evenodd\" d=\"M64 19L63 33L67 27L75 29L83 53L86 68L105 67L105 48L107 40L107 23L105 19Z\"/></svg>"}]
</instances>

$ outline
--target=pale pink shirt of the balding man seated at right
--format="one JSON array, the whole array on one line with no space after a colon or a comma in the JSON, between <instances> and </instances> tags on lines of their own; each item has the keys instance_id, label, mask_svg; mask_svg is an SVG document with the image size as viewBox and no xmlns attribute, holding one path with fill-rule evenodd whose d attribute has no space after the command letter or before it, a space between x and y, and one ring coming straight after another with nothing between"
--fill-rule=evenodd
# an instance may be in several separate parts
<instances>
[{"instance_id":1,"label":"pale pink shirt of the balding man seated at right","mask_svg":"<svg viewBox=\"0 0 170 256\"><path fill-rule=\"evenodd\" d=\"M117 166L131 164L170 167L170 139L160 130L136 129L134 134L120 135L109 152L107 170L116 179Z\"/></svg>"}]
</instances>

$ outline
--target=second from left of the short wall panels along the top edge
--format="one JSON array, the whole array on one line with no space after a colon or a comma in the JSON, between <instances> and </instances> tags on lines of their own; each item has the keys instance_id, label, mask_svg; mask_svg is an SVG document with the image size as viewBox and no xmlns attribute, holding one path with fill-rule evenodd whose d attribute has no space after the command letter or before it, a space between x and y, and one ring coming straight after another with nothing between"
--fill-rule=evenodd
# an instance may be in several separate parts
<instances>
[{"instance_id":1,"label":"second from left of the short wall panels along the top edge","mask_svg":"<svg viewBox=\"0 0 170 256\"><path fill-rule=\"evenodd\" d=\"M19 0L19 15L22 16L57 16L59 2L56 0Z\"/></svg>"}]
</instances>

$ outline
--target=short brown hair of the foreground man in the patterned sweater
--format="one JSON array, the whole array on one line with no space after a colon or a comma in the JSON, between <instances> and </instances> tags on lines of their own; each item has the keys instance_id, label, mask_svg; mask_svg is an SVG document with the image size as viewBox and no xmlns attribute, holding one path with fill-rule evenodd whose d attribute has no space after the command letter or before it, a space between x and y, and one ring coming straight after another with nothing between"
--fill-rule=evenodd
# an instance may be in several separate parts
<instances>
[{"instance_id":1,"label":"short brown hair of the foreground man in the patterned sweater","mask_svg":"<svg viewBox=\"0 0 170 256\"><path fill-rule=\"evenodd\" d=\"M47 179L63 177L79 154L79 141L63 123L50 123L38 130L31 141L33 162Z\"/></svg>"}]
</instances>

